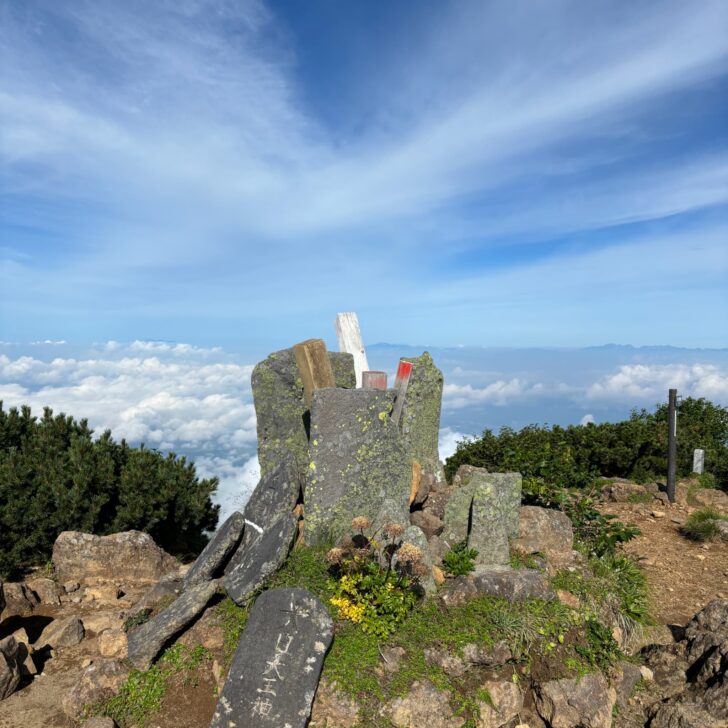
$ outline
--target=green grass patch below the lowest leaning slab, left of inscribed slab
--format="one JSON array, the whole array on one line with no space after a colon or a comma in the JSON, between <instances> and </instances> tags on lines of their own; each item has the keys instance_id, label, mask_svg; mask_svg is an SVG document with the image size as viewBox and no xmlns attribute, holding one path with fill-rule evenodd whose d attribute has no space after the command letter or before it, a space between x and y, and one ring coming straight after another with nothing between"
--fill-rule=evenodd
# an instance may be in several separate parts
<instances>
[{"instance_id":1,"label":"green grass patch below the lowest leaning slab, left of inscribed slab","mask_svg":"<svg viewBox=\"0 0 728 728\"><path fill-rule=\"evenodd\" d=\"M172 645L149 670L132 670L119 693L92 708L91 714L109 716L121 728L145 728L161 710L172 676L182 674L185 682L192 682L197 668L210 659L209 650L202 645Z\"/></svg>"}]
</instances>

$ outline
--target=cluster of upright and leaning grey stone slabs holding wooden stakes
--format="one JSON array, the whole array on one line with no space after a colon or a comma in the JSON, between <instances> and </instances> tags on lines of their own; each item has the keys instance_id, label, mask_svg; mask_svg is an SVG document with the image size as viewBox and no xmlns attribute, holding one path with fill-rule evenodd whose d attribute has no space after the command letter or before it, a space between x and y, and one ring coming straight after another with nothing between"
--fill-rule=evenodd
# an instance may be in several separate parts
<instances>
[{"instance_id":1,"label":"cluster of upright and leaning grey stone slabs holding wooden stakes","mask_svg":"<svg viewBox=\"0 0 728 728\"><path fill-rule=\"evenodd\" d=\"M445 482L438 453L443 376L430 355L402 359L387 388L386 374L366 370L355 314L339 315L337 333L347 350L328 352L322 340L308 340L253 370L260 482L181 584L157 584L160 594L176 598L129 632L136 667L149 668L221 588L246 604L294 545L336 541L354 516L375 528L402 526L403 541L420 547L431 569L421 580L428 594L442 581L444 550L462 541L478 550L468 589L526 598L542 588L528 583L527 570L508 568L509 538L519 535L520 475L467 468L457 487ZM264 591L211 728L305 726L332 638L331 618L315 596Z\"/></svg>"}]
</instances>

